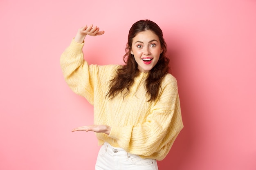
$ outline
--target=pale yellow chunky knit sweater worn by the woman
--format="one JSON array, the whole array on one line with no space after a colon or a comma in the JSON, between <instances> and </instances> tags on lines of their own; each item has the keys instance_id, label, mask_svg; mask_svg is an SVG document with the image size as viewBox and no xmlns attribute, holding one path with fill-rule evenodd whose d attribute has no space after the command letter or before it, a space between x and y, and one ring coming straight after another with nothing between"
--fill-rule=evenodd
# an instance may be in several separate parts
<instances>
[{"instance_id":1,"label":"pale yellow chunky knit sweater worn by the woman","mask_svg":"<svg viewBox=\"0 0 256 170\"><path fill-rule=\"evenodd\" d=\"M61 68L72 91L94 106L94 124L112 127L109 135L96 133L99 145L106 141L142 158L164 159L183 128L175 77L164 77L162 91L154 102L146 102L147 73L135 78L126 97L119 94L109 99L108 82L119 65L89 65L82 48L83 44L72 40L61 55Z\"/></svg>"}]
</instances>

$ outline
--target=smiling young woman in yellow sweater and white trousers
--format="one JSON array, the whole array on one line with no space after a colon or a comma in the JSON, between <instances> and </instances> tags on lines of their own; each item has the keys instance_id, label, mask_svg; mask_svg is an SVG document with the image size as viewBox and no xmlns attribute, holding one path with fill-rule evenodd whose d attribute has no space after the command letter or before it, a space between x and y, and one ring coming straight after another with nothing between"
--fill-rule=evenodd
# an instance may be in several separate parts
<instances>
[{"instance_id":1,"label":"smiling young woman in yellow sweater and white trousers","mask_svg":"<svg viewBox=\"0 0 256 170\"><path fill-rule=\"evenodd\" d=\"M82 48L83 26L61 55L70 88L94 106L94 125L74 128L96 132L96 170L158 170L183 128L177 81L168 73L162 30L150 20L135 22L128 34L124 65L89 65Z\"/></svg>"}]
</instances>

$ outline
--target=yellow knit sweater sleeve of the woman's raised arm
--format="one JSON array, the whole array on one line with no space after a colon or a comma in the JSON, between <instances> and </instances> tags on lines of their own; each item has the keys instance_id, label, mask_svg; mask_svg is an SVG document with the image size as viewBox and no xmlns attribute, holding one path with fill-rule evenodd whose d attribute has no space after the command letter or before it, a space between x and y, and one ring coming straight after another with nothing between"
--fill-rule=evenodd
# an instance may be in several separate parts
<instances>
[{"instance_id":1,"label":"yellow knit sweater sleeve of the woman's raised arm","mask_svg":"<svg viewBox=\"0 0 256 170\"><path fill-rule=\"evenodd\" d=\"M83 45L73 39L70 46L62 53L60 63L68 86L74 93L85 97L93 105L97 65L88 65L84 60Z\"/></svg>"}]
</instances>

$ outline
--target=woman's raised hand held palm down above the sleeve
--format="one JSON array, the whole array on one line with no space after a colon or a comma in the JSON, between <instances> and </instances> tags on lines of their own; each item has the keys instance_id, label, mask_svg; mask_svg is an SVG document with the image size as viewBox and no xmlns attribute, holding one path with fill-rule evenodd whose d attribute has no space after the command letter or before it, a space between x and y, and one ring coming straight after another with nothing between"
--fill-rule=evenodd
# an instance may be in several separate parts
<instances>
[{"instance_id":1,"label":"woman's raised hand held palm down above the sleeve","mask_svg":"<svg viewBox=\"0 0 256 170\"><path fill-rule=\"evenodd\" d=\"M97 36L102 35L103 33L105 33L105 31L99 31L98 26L93 27L92 24L90 26L85 25L77 31L74 40L78 43L82 43L86 35Z\"/></svg>"}]
</instances>

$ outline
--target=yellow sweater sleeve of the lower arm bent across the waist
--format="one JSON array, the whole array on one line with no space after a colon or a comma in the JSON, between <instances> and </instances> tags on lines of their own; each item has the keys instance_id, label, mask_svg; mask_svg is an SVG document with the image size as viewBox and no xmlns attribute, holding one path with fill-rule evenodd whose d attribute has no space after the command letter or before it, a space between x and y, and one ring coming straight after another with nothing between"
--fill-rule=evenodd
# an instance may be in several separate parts
<instances>
[{"instance_id":1,"label":"yellow sweater sleeve of the lower arm bent across the waist","mask_svg":"<svg viewBox=\"0 0 256 170\"><path fill-rule=\"evenodd\" d=\"M162 160L182 128L177 81L173 77L162 87L160 97L145 122L135 126L112 127L109 136L127 152Z\"/></svg>"}]
</instances>

